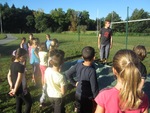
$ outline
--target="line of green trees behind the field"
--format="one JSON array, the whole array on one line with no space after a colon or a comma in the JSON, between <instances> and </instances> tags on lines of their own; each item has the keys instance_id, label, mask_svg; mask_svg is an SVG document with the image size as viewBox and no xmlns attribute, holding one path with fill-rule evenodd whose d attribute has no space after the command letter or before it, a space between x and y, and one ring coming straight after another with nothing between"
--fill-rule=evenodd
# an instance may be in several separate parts
<instances>
[{"instance_id":1,"label":"line of green trees behind the field","mask_svg":"<svg viewBox=\"0 0 150 113\"><path fill-rule=\"evenodd\" d=\"M4 33L30 33L30 32L63 32L81 30L97 30L104 26L105 20L113 22L122 21L121 17L115 12L110 12L106 17L89 18L89 12L75 11L68 9L66 12L62 8L51 10L49 14L42 9L31 10L27 6L16 8L5 3L0 4L0 24ZM150 13L144 9L135 9L129 20L150 18ZM80 29L79 29L80 28ZM125 32L126 25L114 24L114 32ZM129 23L129 32L148 33L150 32L150 21Z\"/></svg>"}]
</instances>

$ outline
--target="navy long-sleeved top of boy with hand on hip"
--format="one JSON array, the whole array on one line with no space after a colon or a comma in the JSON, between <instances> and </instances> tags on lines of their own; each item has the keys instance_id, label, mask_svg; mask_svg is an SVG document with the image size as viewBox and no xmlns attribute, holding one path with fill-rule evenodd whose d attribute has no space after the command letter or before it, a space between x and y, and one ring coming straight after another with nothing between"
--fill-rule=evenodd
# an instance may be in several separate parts
<instances>
[{"instance_id":1,"label":"navy long-sleeved top of boy with hand on hip","mask_svg":"<svg viewBox=\"0 0 150 113\"><path fill-rule=\"evenodd\" d=\"M84 98L93 99L98 94L98 82L96 71L92 66L84 66L83 63L77 63L66 72L67 78L72 85L76 85L74 80L76 75L78 85L76 87L76 95Z\"/></svg>"}]
</instances>

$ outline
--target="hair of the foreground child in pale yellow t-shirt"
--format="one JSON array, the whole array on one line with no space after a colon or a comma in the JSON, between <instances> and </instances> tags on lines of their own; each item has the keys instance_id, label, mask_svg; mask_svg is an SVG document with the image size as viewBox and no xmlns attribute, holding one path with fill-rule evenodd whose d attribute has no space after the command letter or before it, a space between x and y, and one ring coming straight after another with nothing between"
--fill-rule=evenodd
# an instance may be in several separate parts
<instances>
[{"instance_id":1,"label":"hair of the foreground child in pale yellow t-shirt","mask_svg":"<svg viewBox=\"0 0 150 113\"><path fill-rule=\"evenodd\" d=\"M52 50L50 52L50 57L51 57L50 63L55 67L60 67L60 65L64 62L64 55L65 53L62 50L58 50L58 49Z\"/></svg>"}]
</instances>

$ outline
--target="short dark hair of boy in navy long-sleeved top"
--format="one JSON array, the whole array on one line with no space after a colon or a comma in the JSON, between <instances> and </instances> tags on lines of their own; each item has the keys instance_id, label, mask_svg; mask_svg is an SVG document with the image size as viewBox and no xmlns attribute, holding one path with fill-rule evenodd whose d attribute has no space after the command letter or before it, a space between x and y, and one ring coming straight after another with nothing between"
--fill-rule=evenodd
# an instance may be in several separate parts
<instances>
[{"instance_id":1,"label":"short dark hair of boy in navy long-sleeved top","mask_svg":"<svg viewBox=\"0 0 150 113\"><path fill-rule=\"evenodd\" d=\"M82 49L82 57L84 60L91 61L95 56L95 50L93 47L86 46Z\"/></svg>"}]
</instances>

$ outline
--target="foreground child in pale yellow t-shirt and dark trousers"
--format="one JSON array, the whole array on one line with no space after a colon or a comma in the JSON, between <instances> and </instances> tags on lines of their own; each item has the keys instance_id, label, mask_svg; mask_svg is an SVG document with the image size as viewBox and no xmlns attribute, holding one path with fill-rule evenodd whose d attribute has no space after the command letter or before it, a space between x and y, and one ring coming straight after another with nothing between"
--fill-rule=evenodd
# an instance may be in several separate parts
<instances>
[{"instance_id":1,"label":"foreground child in pale yellow t-shirt and dark trousers","mask_svg":"<svg viewBox=\"0 0 150 113\"><path fill-rule=\"evenodd\" d=\"M63 75L59 72L63 60L63 51L51 51L50 63L52 64L52 67L48 67L45 71L45 84L47 86L47 94L51 103L53 104L54 113L61 113L62 97L65 93L65 80Z\"/></svg>"}]
</instances>

